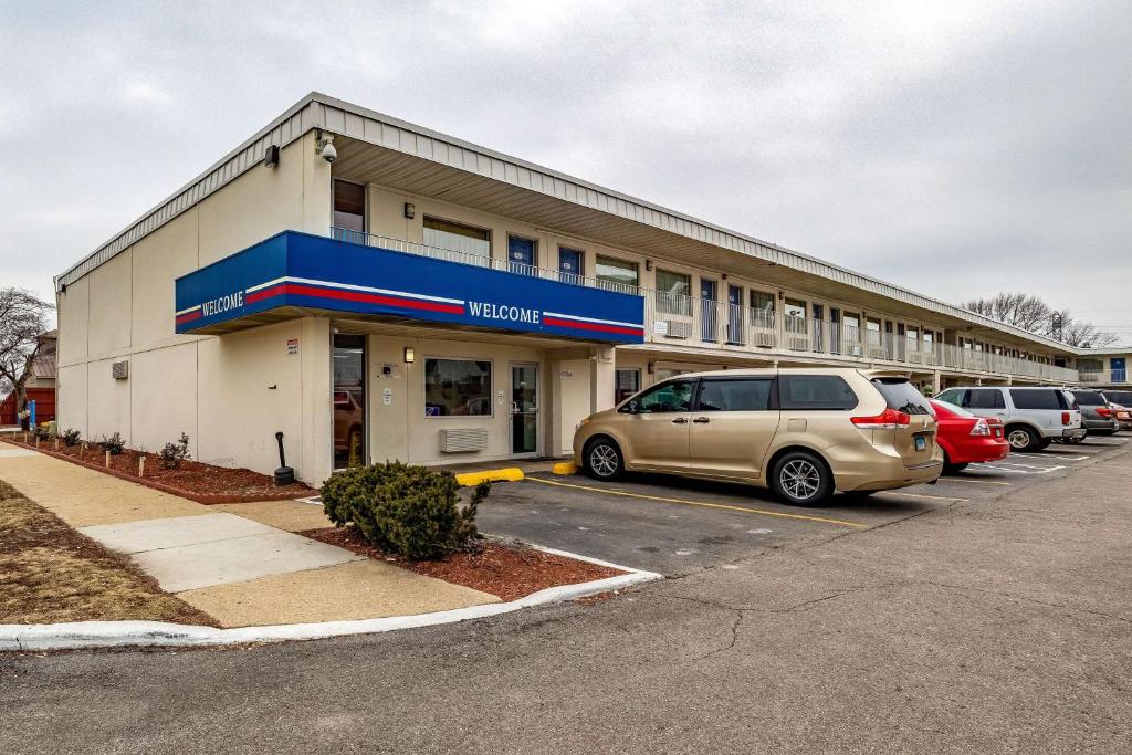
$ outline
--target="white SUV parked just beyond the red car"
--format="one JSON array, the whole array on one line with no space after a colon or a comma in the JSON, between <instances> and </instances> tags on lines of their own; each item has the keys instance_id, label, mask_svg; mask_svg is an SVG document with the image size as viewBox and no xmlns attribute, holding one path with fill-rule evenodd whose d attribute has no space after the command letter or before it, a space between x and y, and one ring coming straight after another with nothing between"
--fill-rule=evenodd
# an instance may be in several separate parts
<instances>
[{"instance_id":1,"label":"white SUV parked just beyond the red car","mask_svg":"<svg viewBox=\"0 0 1132 755\"><path fill-rule=\"evenodd\" d=\"M1077 443L1086 435L1077 398L1064 388L971 386L947 388L935 398L979 417L997 417L1013 451L1039 451L1054 440Z\"/></svg>"}]
</instances>

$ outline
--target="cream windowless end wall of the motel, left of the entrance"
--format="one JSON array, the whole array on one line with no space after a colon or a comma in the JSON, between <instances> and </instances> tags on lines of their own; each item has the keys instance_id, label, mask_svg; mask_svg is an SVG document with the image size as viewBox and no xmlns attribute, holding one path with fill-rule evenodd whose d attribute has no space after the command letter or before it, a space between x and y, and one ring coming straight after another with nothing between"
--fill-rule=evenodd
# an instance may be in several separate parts
<instances>
[{"instance_id":1,"label":"cream windowless end wall of the motel, left of the entrance","mask_svg":"<svg viewBox=\"0 0 1132 755\"><path fill-rule=\"evenodd\" d=\"M308 134L277 168L252 168L67 286L57 297L60 428L121 432L151 452L187 432L194 458L264 473L278 465L282 430L288 463L321 482L332 464L328 321L177 335L174 281L280 231L325 235L331 206L329 165ZM299 354L288 354L289 338ZM121 360L129 378L115 380Z\"/></svg>"}]
</instances>

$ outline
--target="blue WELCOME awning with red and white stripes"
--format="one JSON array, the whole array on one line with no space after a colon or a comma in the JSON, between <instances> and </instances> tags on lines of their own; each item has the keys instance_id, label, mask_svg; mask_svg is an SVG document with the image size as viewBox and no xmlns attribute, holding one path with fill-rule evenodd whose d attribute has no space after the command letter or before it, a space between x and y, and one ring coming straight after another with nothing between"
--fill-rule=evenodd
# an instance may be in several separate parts
<instances>
[{"instance_id":1,"label":"blue WELCOME awning with red and white stripes","mask_svg":"<svg viewBox=\"0 0 1132 755\"><path fill-rule=\"evenodd\" d=\"M644 341L641 297L297 231L177 280L178 333L228 333L311 312Z\"/></svg>"}]
</instances>

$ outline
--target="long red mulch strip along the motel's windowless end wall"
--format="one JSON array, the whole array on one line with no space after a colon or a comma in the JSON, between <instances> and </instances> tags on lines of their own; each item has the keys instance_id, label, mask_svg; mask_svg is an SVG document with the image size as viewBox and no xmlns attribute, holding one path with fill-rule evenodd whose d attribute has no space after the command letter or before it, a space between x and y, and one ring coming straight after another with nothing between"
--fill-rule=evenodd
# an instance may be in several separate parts
<instances>
[{"instance_id":1,"label":"long red mulch strip along the motel's windowless end wall","mask_svg":"<svg viewBox=\"0 0 1132 755\"><path fill-rule=\"evenodd\" d=\"M31 438L24 443L20 434L5 436L3 440L35 448L49 456L82 464L98 472L195 500L198 504L284 500L302 498L315 492L301 482L277 488L268 475L246 469L213 466L212 464L185 461L177 469L166 470L162 467L161 456L156 454L145 454L145 477L139 478L138 458L142 457L142 454L131 448L125 448L121 454L111 456L108 467L106 452L95 444L88 444L84 452L82 444L66 446L60 441L59 451L54 451L53 440L41 440L38 446Z\"/></svg>"}]
</instances>

